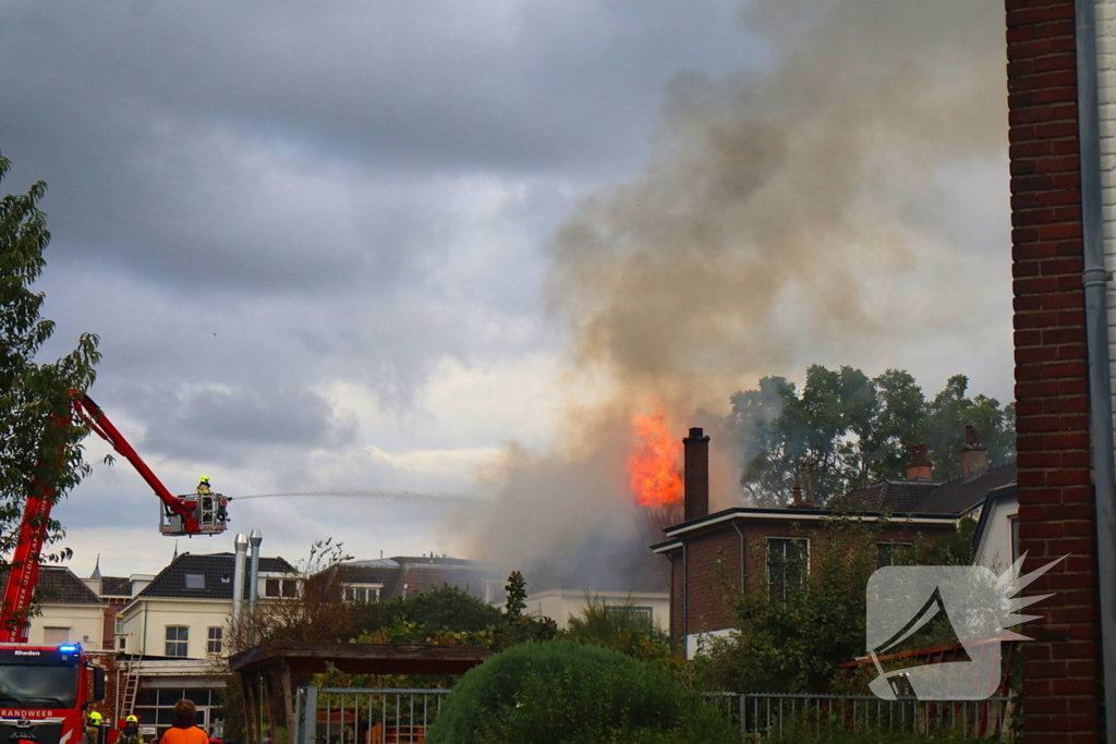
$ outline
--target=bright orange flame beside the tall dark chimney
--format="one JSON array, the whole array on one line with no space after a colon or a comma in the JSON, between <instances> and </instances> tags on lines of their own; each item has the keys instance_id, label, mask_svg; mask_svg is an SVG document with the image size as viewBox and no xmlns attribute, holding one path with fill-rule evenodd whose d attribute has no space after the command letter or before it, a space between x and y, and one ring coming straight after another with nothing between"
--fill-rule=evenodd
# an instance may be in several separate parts
<instances>
[{"instance_id":1,"label":"bright orange flame beside the tall dark chimney","mask_svg":"<svg viewBox=\"0 0 1116 744\"><path fill-rule=\"evenodd\" d=\"M635 445L628 456L632 494L641 506L671 506L682 502L679 460L682 443L671 438L663 406L650 416L632 419Z\"/></svg>"}]
</instances>

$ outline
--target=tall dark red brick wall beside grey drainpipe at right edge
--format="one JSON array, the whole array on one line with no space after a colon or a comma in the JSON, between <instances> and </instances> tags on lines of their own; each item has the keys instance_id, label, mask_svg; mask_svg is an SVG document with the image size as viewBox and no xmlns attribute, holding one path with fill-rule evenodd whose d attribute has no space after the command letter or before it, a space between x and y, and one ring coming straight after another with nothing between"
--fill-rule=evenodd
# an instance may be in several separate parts
<instances>
[{"instance_id":1,"label":"tall dark red brick wall beside grey drainpipe at right edge","mask_svg":"<svg viewBox=\"0 0 1116 744\"><path fill-rule=\"evenodd\" d=\"M1007 0L1019 538L1031 584L1057 592L1023 644L1024 741L1098 738L1072 0Z\"/></svg>"}]
</instances>

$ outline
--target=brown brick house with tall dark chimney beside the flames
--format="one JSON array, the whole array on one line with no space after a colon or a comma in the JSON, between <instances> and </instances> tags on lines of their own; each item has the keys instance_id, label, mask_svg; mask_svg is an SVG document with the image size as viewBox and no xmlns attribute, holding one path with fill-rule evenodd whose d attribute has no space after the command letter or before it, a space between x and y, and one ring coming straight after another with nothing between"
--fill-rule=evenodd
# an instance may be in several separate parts
<instances>
[{"instance_id":1,"label":"brown brick house with tall dark chimney beside the flames","mask_svg":"<svg viewBox=\"0 0 1116 744\"><path fill-rule=\"evenodd\" d=\"M652 550L670 561L670 635L686 658L706 635L728 634L735 599L743 591L786 592L809 571L811 558L840 549L824 528L839 513L881 526L882 560L889 551L933 541L956 531L960 520L978 519L989 493L1016 481L1013 464L988 468L975 431L966 432L963 475L935 481L924 447L915 447L905 480L883 481L843 496L834 510L802 499L786 509L737 506L709 512L709 441L690 429L685 445L685 521L664 530Z\"/></svg>"}]
</instances>

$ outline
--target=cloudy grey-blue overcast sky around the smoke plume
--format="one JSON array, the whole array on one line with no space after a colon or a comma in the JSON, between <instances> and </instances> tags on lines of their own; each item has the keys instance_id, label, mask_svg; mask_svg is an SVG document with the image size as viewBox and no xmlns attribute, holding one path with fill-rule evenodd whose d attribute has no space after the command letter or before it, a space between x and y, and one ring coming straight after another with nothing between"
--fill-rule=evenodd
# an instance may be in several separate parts
<instances>
[{"instance_id":1,"label":"cloudy grey-blue overcast sky around the smoke plume","mask_svg":"<svg viewBox=\"0 0 1116 744\"><path fill-rule=\"evenodd\" d=\"M903 32L964 29L1002 57L995 2L968 3L972 19L943 4L955 27ZM814 3L787 7L809 25ZM49 184L50 350L100 336L92 395L172 492L204 473L231 495L481 493L509 443L551 450L571 400L604 395L569 383L580 363L552 297L561 226L647 177L680 89L747 88L793 57L787 18L747 10L0 0L0 152L15 163L0 189ZM858 47L868 59L873 44ZM816 67L788 85L830 74ZM1010 399L1006 122L978 124L974 138L991 132L1001 149L929 158L932 177L904 166L886 184L906 196L891 206L902 220L934 223L933 240L895 233L905 258L858 286L903 332L790 344L729 383L718 369L725 404L759 374L800 377L815 361L904 367L931 392L961 371ZM924 191L936 206L920 213ZM810 328L783 300L778 332ZM460 554L469 540L439 503L249 500L227 537L179 548L229 550L258 528L267 554L291 560L325 537L358 558ZM97 553L105 573L154 573L174 549L123 462L96 465L56 515L83 576Z\"/></svg>"}]
</instances>

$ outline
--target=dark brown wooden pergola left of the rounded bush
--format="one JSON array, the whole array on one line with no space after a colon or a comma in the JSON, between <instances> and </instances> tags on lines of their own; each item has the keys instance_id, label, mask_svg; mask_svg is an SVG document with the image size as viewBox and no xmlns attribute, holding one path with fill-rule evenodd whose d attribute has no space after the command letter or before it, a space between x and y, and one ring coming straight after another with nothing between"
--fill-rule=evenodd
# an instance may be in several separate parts
<instances>
[{"instance_id":1,"label":"dark brown wooden pergola left of the rounded bush","mask_svg":"<svg viewBox=\"0 0 1116 744\"><path fill-rule=\"evenodd\" d=\"M277 719L286 721L289 736L294 736L298 724L291 675L320 674L330 668L346 674L462 675L491 654L483 646L278 642L262 644L230 657L229 668L240 677L246 711L259 709L262 686L268 738L278 744ZM282 707L277 711L280 699ZM259 731L257 716L246 718L248 744L262 744L263 732Z\"/></svg>"}]
</instances>

